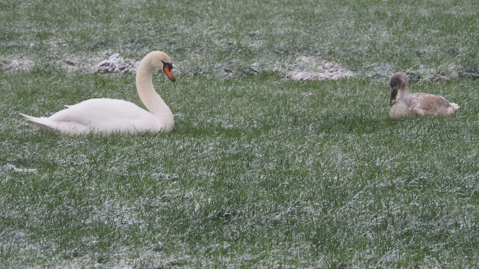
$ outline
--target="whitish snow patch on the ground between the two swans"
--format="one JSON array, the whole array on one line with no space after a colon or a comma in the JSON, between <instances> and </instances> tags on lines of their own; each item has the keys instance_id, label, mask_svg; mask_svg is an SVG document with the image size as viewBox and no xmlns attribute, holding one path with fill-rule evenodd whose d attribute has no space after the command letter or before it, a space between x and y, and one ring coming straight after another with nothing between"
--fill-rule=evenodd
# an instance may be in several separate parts
<instances>
[{"instance_id":1,"label":"whitish snow patch on the ground between the two swans","mask_svg":"<svg viewBox=\"0 0 479 269\"><path fill-rule=\"evenodd\" d=\"M295 63L295 71L286 74L290 80L324 80L354 77L354 72L341 67L335 61L323 61L316 57L299 57Z\"/></svg>"}]
</instances>

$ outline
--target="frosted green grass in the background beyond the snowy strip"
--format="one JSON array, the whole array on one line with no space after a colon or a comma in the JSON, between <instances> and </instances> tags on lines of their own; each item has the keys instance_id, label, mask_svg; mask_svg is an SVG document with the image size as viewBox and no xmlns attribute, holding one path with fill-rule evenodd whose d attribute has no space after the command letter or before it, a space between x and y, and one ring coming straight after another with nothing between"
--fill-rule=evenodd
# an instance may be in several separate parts
<instances>
[{"instance_id":1,"label":"frosted green grass in the background beyond the snowy strip","mask_svg":"<svg viewBox=\"0 0 479 269\"><path fill-rule=\"evenodd\" d=\"M98 53L172 56L189 75L291 68L297 56L388 77L479 77L474 1L0 2L0 56L41 65ZM30 45L33 46L30 48ZM259 67L251 68L253 63Z\"/></svg>"}]
</instances>

